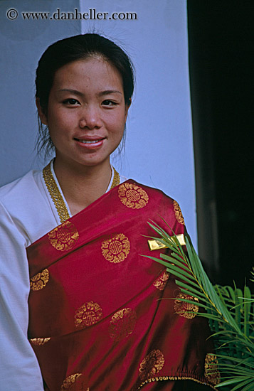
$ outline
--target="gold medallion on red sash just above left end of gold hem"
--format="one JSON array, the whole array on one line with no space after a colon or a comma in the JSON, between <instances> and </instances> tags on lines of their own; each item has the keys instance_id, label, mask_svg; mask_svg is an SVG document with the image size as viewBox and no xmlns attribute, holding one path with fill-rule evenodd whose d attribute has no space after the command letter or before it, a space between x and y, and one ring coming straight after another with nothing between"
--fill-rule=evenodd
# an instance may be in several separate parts
<instances>
[{"instance_id":1,"label":"gold medallion on red sash just above left end of gold hem","mask_svg":"<svg viewBox=\"0 0 254 391\"><path fill-rule=\"evenodd\" d=\"M147 380L151 377L155 377L155 375L157 375L157 373L159 373L159 371L163 368L164 361L164 355L161 350L152 350L152 352L150 352L149 355L142 360L142 363L140 363L140 379Z\"/></svg>"}]
</instances>

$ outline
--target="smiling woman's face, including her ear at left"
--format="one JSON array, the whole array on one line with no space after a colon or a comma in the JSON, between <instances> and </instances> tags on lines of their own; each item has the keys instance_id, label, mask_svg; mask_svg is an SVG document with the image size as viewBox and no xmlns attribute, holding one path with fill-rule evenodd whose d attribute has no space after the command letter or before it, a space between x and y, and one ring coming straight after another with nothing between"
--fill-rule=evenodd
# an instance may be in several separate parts
<instances>
[{"instance_id":1,"label":"smiling woman's face, including her ear at left","mask_svg":"<svg viewBox=\"0 0 254 391\"><path fill-rule=\"evenodd\" d=\"M58 164L109 164L123 136L128 107L118 70L89 58L64 65L55 73L43 114L55 145Z\"/></svg>"}]
</instances>

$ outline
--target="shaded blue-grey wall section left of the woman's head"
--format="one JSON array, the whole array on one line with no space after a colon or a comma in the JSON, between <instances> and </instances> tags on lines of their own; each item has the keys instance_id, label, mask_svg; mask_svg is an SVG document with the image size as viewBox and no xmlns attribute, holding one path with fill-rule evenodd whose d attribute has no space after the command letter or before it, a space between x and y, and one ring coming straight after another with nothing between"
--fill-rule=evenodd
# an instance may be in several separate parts
<instances>
[{"instance_id":1,"label":"shaded blue-grey wall section left of the woman's head","mask_svg":"<svg viewBox=\"0 0 254 391\"><path fill-rule=\"evenodd\" d=\"M0 186L44 165L34 146L38 124L35 77L48 45L80 33L80 21L23 20L23 11L71 11L78 0L0 1ZM6 11L16 9L9 20Z\"/></svg>"}]
</instances>

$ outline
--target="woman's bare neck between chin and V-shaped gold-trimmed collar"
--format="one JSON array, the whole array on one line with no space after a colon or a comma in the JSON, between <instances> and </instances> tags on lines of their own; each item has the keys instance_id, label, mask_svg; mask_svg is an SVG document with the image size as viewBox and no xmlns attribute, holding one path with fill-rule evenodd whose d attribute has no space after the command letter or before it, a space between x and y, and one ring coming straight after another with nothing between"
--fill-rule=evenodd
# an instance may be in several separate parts
<instances>
[{"instance_id":1,"label":"woman's bare neck between chin and V-shaped gold-trimmed collar","mask_svg":"<svg viewBox=\"0 0 254 391\"><path fill-rule=\"evenodd\" d=\"M100 198L112 176L109 160L96 166L70 166L56 158L54 171L72 215Z\"/></svg>"}]
</instances>

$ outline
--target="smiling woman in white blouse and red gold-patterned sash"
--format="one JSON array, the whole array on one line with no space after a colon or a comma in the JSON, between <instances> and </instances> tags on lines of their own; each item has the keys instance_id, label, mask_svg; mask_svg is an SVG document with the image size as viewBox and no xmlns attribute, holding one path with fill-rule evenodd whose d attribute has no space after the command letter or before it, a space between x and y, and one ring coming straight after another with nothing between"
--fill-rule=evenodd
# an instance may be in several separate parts
<instances>
[{"instance_id":1,"label":"smiling woman in white blouse and red gold-patterned sash","mask_svg":"<svg viewBox=\"0 0 254 391\"><path fill-rule=\"evenodd\" d=\"M42 144L55 159L0 191L3 390L198 390L218 380L206 321L142 257L147 220L183 236L179 205L110 165L133 89L129 58L97 34L58 41L38 63Z\"/></svg>"}]
</instances>

